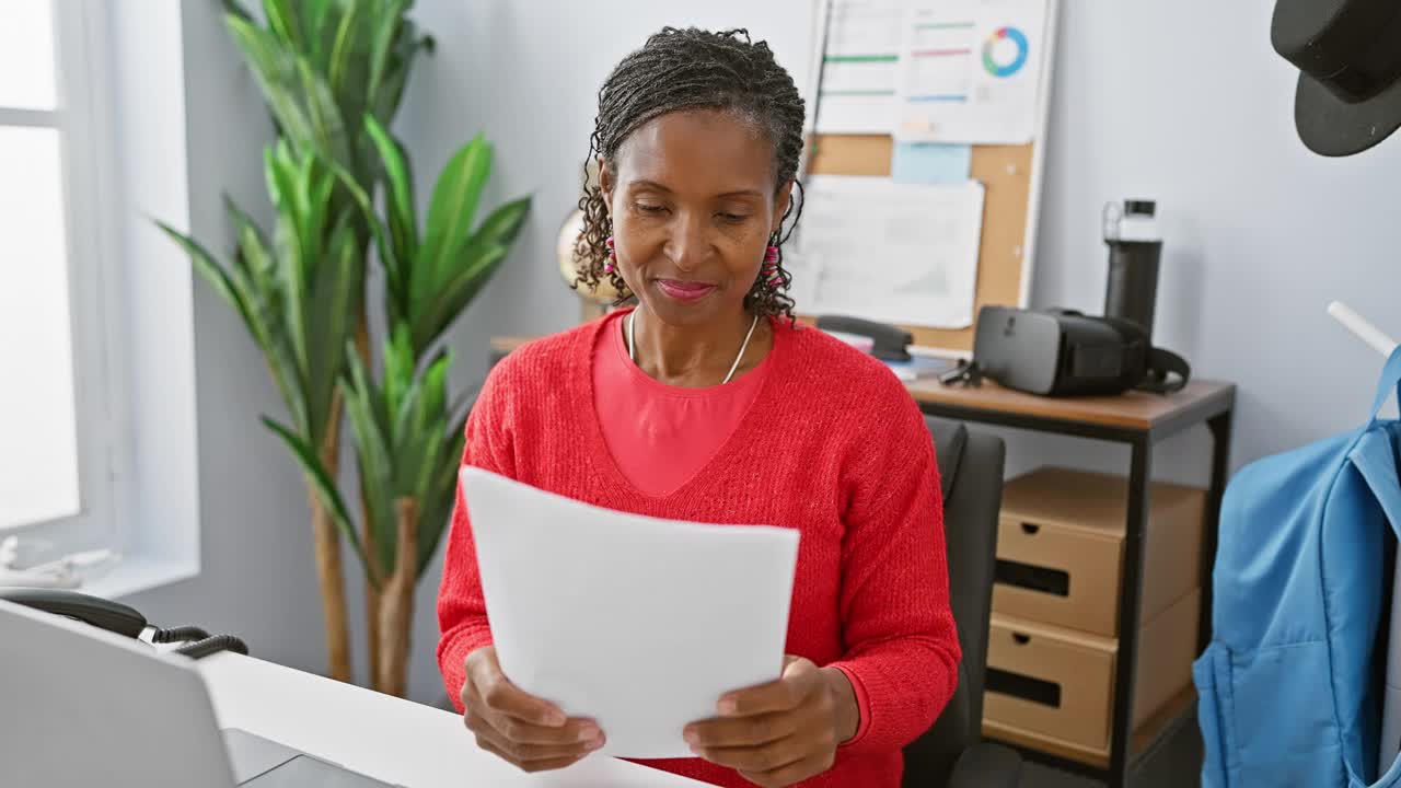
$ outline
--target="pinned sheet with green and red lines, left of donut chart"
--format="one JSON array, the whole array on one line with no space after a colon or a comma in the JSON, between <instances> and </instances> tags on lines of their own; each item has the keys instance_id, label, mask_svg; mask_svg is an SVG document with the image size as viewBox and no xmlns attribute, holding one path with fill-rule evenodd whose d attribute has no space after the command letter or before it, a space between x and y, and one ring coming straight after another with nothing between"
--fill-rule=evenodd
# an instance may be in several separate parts
<instances>
[{"instance_id":1,"label":"pinned sheet with green and red lines, left of donut chart","mask_svg":"<svg viewBox=\"0 0 1401 788\"><path fill-rule=\"evenodd\" d=\"M904 0L835 0L827 22L817 130L880 133L895 128L895 76Z\"/></svg>"}]
</instances>

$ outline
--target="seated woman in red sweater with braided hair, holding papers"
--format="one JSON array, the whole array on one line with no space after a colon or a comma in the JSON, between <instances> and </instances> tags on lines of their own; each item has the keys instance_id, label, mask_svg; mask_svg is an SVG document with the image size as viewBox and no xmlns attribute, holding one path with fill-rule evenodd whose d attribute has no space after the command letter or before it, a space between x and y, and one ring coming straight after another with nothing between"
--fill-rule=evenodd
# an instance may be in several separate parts
<instances>
[{"instance_id":1,"label":"seated woman in red sweater with braided hair, holding papers","mask_svg":"<svg viewBox=\"0 0 1401 788\"><path fill-rule=\"evenodd\" d=\"M803 100L744 31L667 28L625 57L598 94L577 259L580 283L607 276L637 306L497 365L462 461L611 509L800 530L782 677L716 698L685 731L695 759L646 763L716 785L897 788L901 747L957 680L939 477L895 376L792 320L801 150ZM439 617L483 749L538 771L602 746L502 674L461 501Z\"/></svg>"}]
</instances>

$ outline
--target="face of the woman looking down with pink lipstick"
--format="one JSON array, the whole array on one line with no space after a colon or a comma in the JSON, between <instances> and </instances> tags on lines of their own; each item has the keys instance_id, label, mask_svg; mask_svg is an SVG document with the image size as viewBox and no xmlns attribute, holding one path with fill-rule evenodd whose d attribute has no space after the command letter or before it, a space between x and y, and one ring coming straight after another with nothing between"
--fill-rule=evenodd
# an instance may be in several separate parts
<instances>
[{"instance_id":1,"label":"face of the woman looking down with pink lipstick","mask_svg":"<svg viewBox=\"0 0 1401 788\"><path fill-rule=\"evenodd\" d=\"M740 314L793 188L775 189L768 136L723 111L668 112L600 164L618 271L647 311L671 325Z\"/></svg>"}]
</instances>

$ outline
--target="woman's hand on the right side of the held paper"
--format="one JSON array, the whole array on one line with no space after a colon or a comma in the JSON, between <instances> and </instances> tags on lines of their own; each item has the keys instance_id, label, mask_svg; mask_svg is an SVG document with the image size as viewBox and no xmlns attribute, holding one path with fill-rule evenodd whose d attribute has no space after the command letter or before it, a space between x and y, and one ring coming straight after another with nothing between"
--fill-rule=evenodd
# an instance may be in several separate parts
<instances>
[{"instance_id":1,"label":"woman's hand on the right side of the held paper","mask_svg":"<svg viewBox=\"0 0 1401 788\"><path fill-rule=\"evenodd\" d=\"M860 722L846 674L799 656L785 658L778 681L720 698L719 712L686 726L691 750L765 788L831 768L838 745L855 736Z\"/></svg>"}]
</instances>

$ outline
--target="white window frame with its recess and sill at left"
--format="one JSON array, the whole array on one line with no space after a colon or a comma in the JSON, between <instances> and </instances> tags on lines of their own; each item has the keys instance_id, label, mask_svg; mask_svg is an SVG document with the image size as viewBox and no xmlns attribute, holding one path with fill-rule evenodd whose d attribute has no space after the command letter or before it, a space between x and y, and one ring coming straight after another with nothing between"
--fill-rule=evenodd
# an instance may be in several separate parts
<instances>
[{"instance_id":1,"label":"white window frame with its recess and sill at left","mask_svg":"<svg viewBox=\"0 0 1401 788\"><path fill-rule=\"evenodd\" d=\"M191 224L184 8L53 8L57 111L0 123L60 129L80 513L0 537L115 550L80 590L123 597L200 571L193 282L154 224Z\"/></svg>"}]
</instances>

